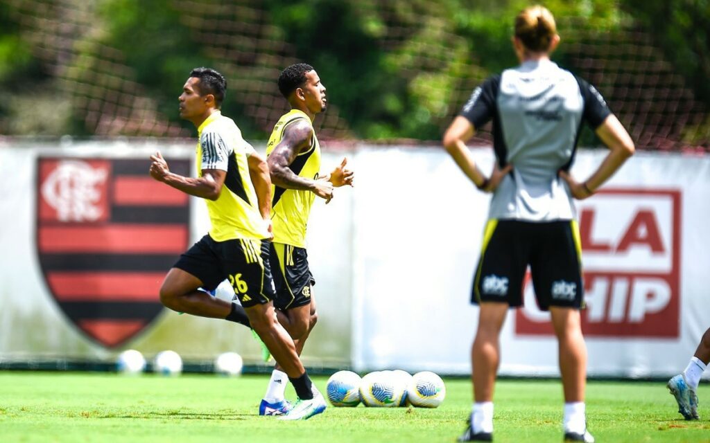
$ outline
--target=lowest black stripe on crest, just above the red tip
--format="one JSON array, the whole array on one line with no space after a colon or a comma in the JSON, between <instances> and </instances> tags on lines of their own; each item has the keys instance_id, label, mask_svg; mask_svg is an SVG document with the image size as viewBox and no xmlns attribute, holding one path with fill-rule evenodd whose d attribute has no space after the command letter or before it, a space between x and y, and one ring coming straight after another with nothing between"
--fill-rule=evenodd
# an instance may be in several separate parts
<instances>
[{"instance_id":1,"label":"lowest black stripe on crest, just above the red tip","mask_svg":"<svg viewBox=\"0 0 710 443\"><path fill-rule=\"evenodd\" d=\"M157 296L157 294L156 294ZM163 305L152 301L65 301L62 310L72 320L152 320Z\"/></svg>"}]
</instances>

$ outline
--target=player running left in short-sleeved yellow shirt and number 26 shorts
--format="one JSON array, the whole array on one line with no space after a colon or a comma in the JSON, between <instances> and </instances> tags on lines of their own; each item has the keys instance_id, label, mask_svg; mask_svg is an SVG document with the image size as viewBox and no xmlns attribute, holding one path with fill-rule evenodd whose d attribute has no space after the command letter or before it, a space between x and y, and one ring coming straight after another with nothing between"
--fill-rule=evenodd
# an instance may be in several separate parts
<instances>
[{"instance_id":1,"label":"player running left in short-sleeved yellow shirt and number 26 shorts","mask_svg":"<svg viewBox=\"0 0 710 443\"><path fill-rule=\"evenodd\" d=\"M151 156L151 176L207 202L212 229L180 256L160 287L167 308L209 318L234 318L236 303L210 296L224 279L234 287L249 324L293 383L299 402L287 420L325 410L293 339L278 323L268 260L271 242L271 179L263 157L241 137L234 120L219 111L226 80L214 69L197 68L180 94L180 117L197 128L197 178L170 172L160 152ZM244 323L239 321L239 323Z\"/></svg>"}]
</instances>

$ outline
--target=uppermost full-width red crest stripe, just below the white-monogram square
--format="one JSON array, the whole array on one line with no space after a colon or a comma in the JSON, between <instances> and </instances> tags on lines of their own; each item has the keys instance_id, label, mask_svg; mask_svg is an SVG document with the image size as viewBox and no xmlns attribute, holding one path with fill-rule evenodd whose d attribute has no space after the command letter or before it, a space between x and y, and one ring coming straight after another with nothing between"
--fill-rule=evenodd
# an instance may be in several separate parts
<instances>
[{"instance_id":1,"label":"uppermost full-width red crest stripe, just below the white-monogram square","mask_svg":"<svg viewBox=\"0 0 710 443\"><path fill-rule=\"evenodd\" d=\"M44 226L40 252L180 253L187 227L176 225Z\"/></svg>"}]
</instances>

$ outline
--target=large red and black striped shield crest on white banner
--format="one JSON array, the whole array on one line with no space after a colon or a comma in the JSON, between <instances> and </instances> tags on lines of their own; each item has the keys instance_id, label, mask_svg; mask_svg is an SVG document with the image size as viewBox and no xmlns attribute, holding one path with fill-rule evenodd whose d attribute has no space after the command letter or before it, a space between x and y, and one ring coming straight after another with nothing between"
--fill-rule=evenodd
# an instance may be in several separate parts
<instances>
[{"instance_id":1,"label":"large red and black striped shield crest on white banner","mask_svg":"<svg viewBox=\"0 0 710 443\"><path fill-rule=\"evenodd\" d=\"M187 249L188 199L146 159L38 159L37 252L50 293L92 340L118 346L163 306L165 273ZM170 169L187 175L190 163Z\"/></svg>"}]
</instances>

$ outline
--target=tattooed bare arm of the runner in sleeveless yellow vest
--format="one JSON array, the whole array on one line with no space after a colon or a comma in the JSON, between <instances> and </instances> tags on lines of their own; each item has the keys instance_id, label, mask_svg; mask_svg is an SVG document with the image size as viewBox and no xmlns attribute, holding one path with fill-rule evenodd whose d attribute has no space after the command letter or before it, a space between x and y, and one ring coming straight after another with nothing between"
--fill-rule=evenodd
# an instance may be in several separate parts
<instances>
[{"instance_id":1,"label":"tattooed bare arm of the runner in sleeveless yellow vest","mask_svg":"<svg viewBox=\"0 0 710 443\"><path fill-rule=\"evenodd\" d=\"M310 148L312 138L313 128L305 120L286 126L283 138L266 160L273 184L285 189L314 190L314 180L298 176L290 169L297 155Z\"/></svg>"}]
</instances>

